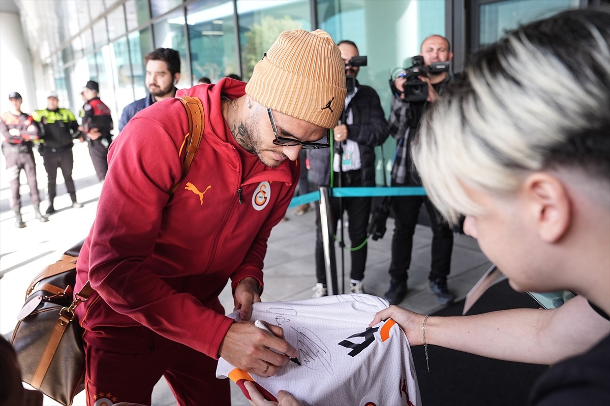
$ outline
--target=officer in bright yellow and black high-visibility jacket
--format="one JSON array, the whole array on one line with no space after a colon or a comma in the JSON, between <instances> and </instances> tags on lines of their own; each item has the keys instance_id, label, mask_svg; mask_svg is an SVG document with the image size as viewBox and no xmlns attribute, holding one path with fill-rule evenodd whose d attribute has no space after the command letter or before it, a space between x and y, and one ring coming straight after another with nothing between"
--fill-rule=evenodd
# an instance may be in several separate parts
<instances>
[{"instance_id":1,"label":"officer in bright yellow and black high-visibility jacket","mask_svg":"<svg viewBox=\"0 0 610 406\"><path fill-rule=\"evenodd\" d=\"M72 200L72 207L82 207L82 204L76 201L76 189L72 180L73 139L79 138L81 131L78 129L74 114L70 110L57 107L58 102L57 93L52 91L46 98L46 108L36 110L32 114L34 120L41 124L40 153L45 163L49 191L49 207L46 209L46 214L55 212L53 202L56 196L57 168L62 170L63 180Z\"/></svg>"}]
</instances>

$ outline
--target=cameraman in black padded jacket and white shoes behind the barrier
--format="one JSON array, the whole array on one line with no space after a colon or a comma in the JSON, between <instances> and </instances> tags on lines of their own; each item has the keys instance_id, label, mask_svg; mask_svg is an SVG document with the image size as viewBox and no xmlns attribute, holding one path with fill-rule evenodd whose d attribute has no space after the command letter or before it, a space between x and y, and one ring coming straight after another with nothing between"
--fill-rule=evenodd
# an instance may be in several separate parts
<instances>
[{"instance_id":1,"label":"cameraman in black padded jacket and white shoes behind the barrier","mask_svg":"<svg viewBox=\"0 0 610 406\"><path fill-rule=\"evenodd\" d=\"M307 150L311 180L320 186L331 184L342 187L375 186L375 146L383 144L388 136L385 114L375 89L360 85L356 75L360 66L366 65L365 57L359 57L353 41L341 41L341 57L345 61L348 94L345 99L342 121L334 128L334 158L328 150ZM354 58L356 57L356 58ZM353 59L354 58L354 59ZM340 182L340 183L339 183ZM340 204L341 203L341 204ZM349 220L348 232L351 242L350 293L364 293L362 280L367 261L368 217L371 212L371 197L331 198L333 233L336 234L337 220L346 211ZM326 296L326 265L320 220L320 203L316 205L315 267L317 284L314 298ZM362 247L361 247L362 245Z\"/></svg>"}]
</instances>

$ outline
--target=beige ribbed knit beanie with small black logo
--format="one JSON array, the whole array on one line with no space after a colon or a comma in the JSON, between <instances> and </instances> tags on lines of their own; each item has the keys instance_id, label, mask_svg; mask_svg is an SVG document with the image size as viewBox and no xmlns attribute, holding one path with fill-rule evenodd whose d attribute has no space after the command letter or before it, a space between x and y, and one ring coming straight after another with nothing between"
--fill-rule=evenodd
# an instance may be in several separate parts
<instances>
[{"instance_id":1,"label":"beige ribbed knit beanie with small black logo","mask_svg":"<svg viewBox=\"0 0 610 406\"><path fill-rule=\"evenodd\" d=\"M282 32L254 66L246 94L289 116L333 128L345 104L345 63L323 30Z\"/></svg>"}]
</instances>

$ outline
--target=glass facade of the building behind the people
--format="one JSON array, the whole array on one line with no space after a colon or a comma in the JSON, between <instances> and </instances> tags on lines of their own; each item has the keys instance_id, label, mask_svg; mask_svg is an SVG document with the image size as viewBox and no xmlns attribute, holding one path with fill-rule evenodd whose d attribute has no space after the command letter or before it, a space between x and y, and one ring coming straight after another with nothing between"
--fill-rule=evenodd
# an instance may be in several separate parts
<instances>
[{"instance_id":1,"label":"glass facade of the building behind the people","mask_svg":"<svg viewBox=\"0 0 610 406\"><path fill-rule=\"evenodd\" d=\"M23 2L25 7L33 2ZM62 0L59 21L74 24L51 29L49 41L34 52L45 72L43 87L55 86L75 113L82 107L87 80L99 82L101 99L112 110L115 126L123 108L146 96L144 56L154 47L171 47L181 55L178 88L199 77L212 83L228 74L246 82L254 65L283 30L326 30L337 42L354 41L368 64L358 76L372 86L389 114L390 74L411 66L420 43L432 34L445 35L446 0ZM495 41L507 28L545 16L579 0L504 0L480 7L481 43ZM36 13L33 7L28 13ZM38 12L42 13L42 12ZM62 17L63 16L63 17ZM517 16L517 17L515 17ZM40 18L42 15L40 14ZM62 25L62 24L60 24ZM42 33L40 35L44 35ZM29 33L28 35L38 35ZM53 36L51 38L51 36ZM56 38L57 37L57 38ZM53 40L53 41L51 41ZM65 98L64 98L65 97ZM115 131L116 132L116 131ZM389 138L378 149L378 184L384 183L395 150ZM385 159L381 159L381 152ZM386 172L387 173L387 172Z\"/></svg>"}]
</instances>

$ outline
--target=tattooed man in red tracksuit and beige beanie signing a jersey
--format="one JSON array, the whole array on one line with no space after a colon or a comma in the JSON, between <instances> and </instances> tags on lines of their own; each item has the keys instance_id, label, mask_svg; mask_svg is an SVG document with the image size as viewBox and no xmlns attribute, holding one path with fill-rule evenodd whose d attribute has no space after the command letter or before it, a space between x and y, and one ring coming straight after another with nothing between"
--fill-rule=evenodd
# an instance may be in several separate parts
<instances>
[{"instance_id":1,"label":"tattooed man in red tracksuit and beige beanie signing a jersey","mask_svg":"<svg viewBox=\"0 0 610 406\"><path fill-rule=\"evenodd\" d=\"M296 357L281 327L268 334L250 317L267 239L299 179L299 152L328 147L341 114L343 66L328 33L285 31L247 85L224 78L178 91L198 97L204 115L184 178L181 100L145 108L112 142L74 289L88 280L95 290L76 309L87 404L150 404L165 376L178 404L230 405L229 380L215 377L218 357L260 376ZM218 300L229 279L239 322Z\"/></svg>"}]
</instances>

